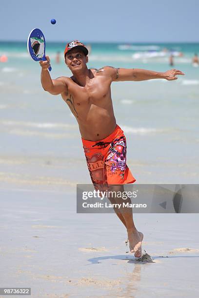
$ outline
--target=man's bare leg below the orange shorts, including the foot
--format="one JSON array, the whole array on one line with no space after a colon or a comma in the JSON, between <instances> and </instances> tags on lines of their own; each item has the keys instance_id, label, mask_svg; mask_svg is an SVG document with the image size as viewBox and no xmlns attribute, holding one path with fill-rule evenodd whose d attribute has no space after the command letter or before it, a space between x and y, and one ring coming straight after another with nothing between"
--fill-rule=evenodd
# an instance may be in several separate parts
<instances>
[{"instance_id":1,"label":"man's bare leg below the orange shorts, including the foot","mask_svg":"<svg viewBox=\"0 0 199 298\"><path fill-rule=\"evenodd\" d=\"M113 195L110 195L108 198L110 201L114 201L114 204L122 204L123 199L117 197L117 192L123 192L123 185L110 185L109 191L113 192ZM116 192L116 195L114 194ZM130 198L125 200L125 203L131 204ZM120 221L126 226L129 240L129 248L131 252L135 252L135 257L139 258L141 256L141 242L143 239L143 234L139 232L133 221L133 212L132 208L114 208L114 211L118 215Z\"/></svg>"}]
</instances>

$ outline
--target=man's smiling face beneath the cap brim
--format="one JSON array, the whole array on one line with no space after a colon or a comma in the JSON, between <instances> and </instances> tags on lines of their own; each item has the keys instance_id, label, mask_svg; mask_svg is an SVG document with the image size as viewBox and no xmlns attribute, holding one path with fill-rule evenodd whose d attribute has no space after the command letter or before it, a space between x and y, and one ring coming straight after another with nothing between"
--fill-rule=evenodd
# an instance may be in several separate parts
<instances>
[{"instance_id":1,"label":"man's smiling face beneath the cap brim","mask_svg":"<svg viewBox=\"0 0 199 298\"><path fill-rule=\"evenodd\" d=\"M65 56L65 63L71 71L85 68L88 57L80 49L70 50Z\"/></svg>"}]
</instances>

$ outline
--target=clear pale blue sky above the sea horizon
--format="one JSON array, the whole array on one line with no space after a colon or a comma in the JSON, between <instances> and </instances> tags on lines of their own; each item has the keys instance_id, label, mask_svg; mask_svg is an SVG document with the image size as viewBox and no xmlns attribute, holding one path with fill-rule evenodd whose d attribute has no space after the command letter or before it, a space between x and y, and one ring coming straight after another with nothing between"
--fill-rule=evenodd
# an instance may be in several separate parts
<instances>
[{"instance_id":1,"label":"clear pale blue sky above the sea horizon","mask_svg":"<svg viewBox=\"0 0 199 298\"><path fill-rule=\"evenodd\" d=\"M0 40L199 42L199 0L0 0ZM52 25L50 20L56 19Z\"/></svg>"}]
</instances>

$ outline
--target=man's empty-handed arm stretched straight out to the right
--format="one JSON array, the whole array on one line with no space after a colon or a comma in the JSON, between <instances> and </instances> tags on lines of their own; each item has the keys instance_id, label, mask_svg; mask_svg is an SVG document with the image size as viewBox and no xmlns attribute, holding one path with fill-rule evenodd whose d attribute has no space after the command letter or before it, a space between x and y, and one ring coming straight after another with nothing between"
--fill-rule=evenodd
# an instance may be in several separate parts
<instances>
[{"instance_id":1,"label":"man's empty-handed arm stretched straight out to the right","mask_svg":"<svg viewBox=\"0 0 199 298\"><path fill-rule=\"evenodd\" d=\"M113 70L114 69L114 70ZM151 79L166 79L168 81L177 80L176 75L184 75L177 69L171 69L164 73L149 71L145 69L127 69L127 68L112 68L113 82L121 81L145 81Z\"/></svg>"}]
</instances>

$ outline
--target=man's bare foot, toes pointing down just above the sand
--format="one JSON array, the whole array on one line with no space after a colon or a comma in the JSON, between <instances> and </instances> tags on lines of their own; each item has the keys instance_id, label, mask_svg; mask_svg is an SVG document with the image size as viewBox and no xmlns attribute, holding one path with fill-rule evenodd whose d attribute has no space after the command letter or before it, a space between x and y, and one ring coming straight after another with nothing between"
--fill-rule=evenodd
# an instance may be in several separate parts
<instances>
[{"instance_id":1,"label":"man's bare foot, toes pointing down just above the sand","mask_svg":"<svg viewBox=\"0 0 199 298\"><path fill-rule=\"evenodd\" d=\"M128 240L130 252L134 252L136 258L141 257L141 242L143 240L143 234L137 230L128 230Z\"/></svg>"}]
</instances>

